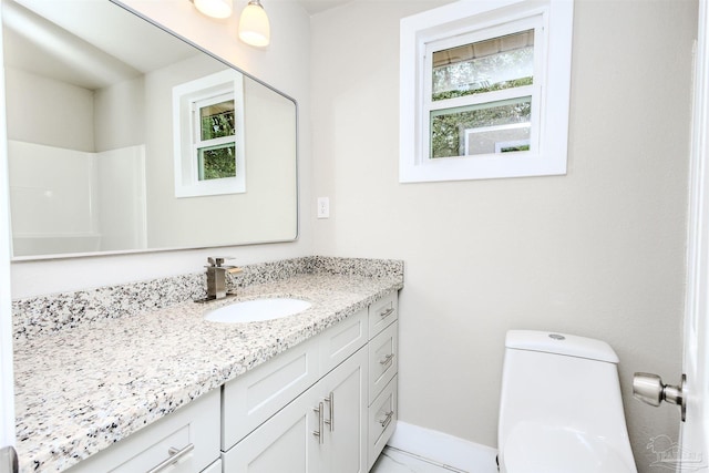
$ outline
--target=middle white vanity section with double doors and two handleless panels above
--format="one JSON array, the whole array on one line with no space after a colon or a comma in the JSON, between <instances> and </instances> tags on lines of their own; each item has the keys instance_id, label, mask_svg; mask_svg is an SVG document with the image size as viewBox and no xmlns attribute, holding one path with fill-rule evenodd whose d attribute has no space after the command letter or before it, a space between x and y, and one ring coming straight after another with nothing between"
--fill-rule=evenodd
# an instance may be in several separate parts
<instances>
[{"instance_id":1,"label":"middle white vanity section with double doors and two handleless panels above","mask_svg":"<svg viewBox=\"0 0 709 473\"><path fill-rule=\"evenodd\" d=\"M367 325L364 309L224 387L225 473L368 470ZM312 379L314 364L311 387L300 389ZM251 408L248 391L266 384ZM271 402L276 398L280 404ZM254 430L255 412L275 415Z\"/></svg>"}]
</instances>

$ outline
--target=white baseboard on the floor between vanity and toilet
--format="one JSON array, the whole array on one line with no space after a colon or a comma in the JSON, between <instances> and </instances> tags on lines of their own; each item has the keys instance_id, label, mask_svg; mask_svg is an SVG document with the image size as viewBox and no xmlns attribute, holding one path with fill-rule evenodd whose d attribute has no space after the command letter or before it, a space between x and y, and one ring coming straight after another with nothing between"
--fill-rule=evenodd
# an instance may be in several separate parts
<instances>
[{"instance_id":1,"label":"white baseboard on the floor between vanity and toilet","mask_svg":"<svg viewBox=\"0 0 709 473\"><path fill-rule=\"evenodd\" d=\"M497 472L496 449L407 422L397 422L388 445L466 472Z\"/></svg>"}]
</instances>

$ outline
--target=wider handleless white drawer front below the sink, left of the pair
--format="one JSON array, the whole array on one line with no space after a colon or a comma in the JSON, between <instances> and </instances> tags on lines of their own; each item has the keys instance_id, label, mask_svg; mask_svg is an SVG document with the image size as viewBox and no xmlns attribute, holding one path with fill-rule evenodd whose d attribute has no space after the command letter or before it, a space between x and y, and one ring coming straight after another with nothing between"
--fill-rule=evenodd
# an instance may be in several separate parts
<instances>
[{"instance_id":1,"label":"wider handleless white drawer front below the sink, left of the pair","mask_svg":"<svg viewBox=\"0 0 709 473\"><path fill-rule=\"evenodd\" d=\"M318 337L224 384L222 450L227 451L319 378Z\"/></svg>"}]
</instances>

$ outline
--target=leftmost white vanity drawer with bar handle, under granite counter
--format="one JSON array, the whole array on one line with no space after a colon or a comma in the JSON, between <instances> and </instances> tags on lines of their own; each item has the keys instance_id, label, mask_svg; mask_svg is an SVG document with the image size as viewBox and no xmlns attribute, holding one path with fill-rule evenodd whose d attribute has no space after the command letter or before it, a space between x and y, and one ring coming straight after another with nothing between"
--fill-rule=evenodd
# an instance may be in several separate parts
<instances>
[{"instance_id":1,"label":"leftmost white vanity drawer with bar handle, under granite counter","mask_svg":"<svg viewBox=\"0 0 709 473\"><path fill-rule=\"evenodd\" d=\"M218 389L78 463L69 472L147 472L176 455L179 460L161 473L201 472L219 459Z\"/></svg>"}]
</instances>

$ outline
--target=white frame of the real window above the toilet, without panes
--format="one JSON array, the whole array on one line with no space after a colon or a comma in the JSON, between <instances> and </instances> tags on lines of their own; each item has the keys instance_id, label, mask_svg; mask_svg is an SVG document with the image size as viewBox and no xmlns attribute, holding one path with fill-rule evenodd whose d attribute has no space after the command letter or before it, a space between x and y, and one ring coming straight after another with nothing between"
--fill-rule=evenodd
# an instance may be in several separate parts
<instances>
[{"instance_id":1,"label":"white frame of the real window above the toilet, without panes","mask_svg":"<svg viewBox=\"0 0 709 473\"><path fill-rule=\"evenodd\" d=\"M456 44L535 30L534 84L486 92L445 104L431 102L427 53ZM566 174L573 0L459 1L401 20L400 156L402 183ZM528 93L523 89L527 89ZM491 103L532 96L530 151L430 157L430 112L456 101Z\"/></svg>"}]
</instances>

